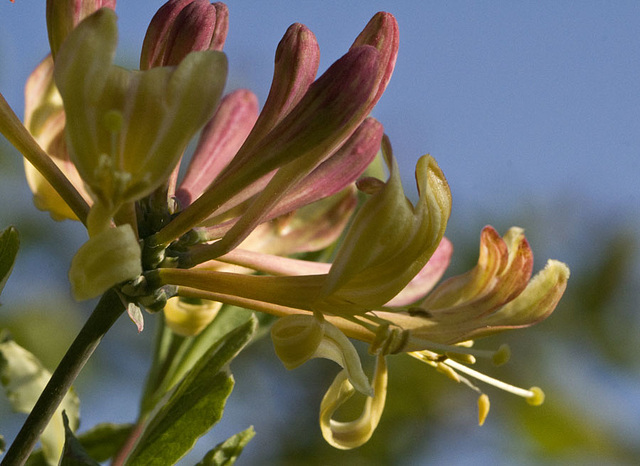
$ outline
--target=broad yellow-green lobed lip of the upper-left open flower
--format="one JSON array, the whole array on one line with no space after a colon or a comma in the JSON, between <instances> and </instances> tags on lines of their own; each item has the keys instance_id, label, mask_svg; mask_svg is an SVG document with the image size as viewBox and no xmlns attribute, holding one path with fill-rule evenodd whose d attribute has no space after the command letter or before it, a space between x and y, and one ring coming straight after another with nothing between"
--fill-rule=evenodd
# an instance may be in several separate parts
<instances>
[{"instance_id":1,"label":"broad yellow-green lobed lip of the upper-left open flower","mask_svg":"<svg viewBox=\"0 0 640 466\"><path fill-rule=\"evenodd\" d=\"M114 210L169 176L226 77L226 58L214 51L176 68L126 71L112 65L116 36L115 14L99 10L68 36L55 69L71 160L92 196Z\"/></svg>"}]
</instances>

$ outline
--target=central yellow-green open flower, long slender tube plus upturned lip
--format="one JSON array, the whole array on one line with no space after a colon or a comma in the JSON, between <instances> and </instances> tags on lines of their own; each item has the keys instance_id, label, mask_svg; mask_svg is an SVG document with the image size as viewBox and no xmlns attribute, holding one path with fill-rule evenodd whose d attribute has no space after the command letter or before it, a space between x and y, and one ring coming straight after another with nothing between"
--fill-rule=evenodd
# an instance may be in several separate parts
<instances>
[{"instance_id":1,"label":"central yellow-green open flower, long slender tube plus upturned lip","mask_svg":"<svg viewBox=\"0 0 640 466\"><path fill-rule=\"evenodd\" d=\"M325 315L350 317L382 307L434 253L451 206L448 185L433 159L422 158L416 167L420 199L414 207L402 191L390 148L384 153L389 181L356 215L328 273L270 277L162 269L160 280ZM378 241L377 234L387 241Z\"/></svg>"}]
</instances>

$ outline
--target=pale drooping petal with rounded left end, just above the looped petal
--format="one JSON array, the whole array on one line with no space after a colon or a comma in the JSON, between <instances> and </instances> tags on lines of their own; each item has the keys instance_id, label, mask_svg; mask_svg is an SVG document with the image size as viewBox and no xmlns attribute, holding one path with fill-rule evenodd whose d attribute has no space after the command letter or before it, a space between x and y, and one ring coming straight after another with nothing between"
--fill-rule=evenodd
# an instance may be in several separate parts
<instances>
[{"instance_id":1,"label":"pale drooping petal with rounded left end, just above the looped petal","mask_svg":"<svg viewBox=\"0 0 640 466\"><path fill-rule=\"evenodd\" d=\"M287 369L295 369L313 358L330 359L343 368L356 390L372 394L356 349L332 324L311 315L282 317L271 328L271 340Z\"/></svg>"}]
</instances>

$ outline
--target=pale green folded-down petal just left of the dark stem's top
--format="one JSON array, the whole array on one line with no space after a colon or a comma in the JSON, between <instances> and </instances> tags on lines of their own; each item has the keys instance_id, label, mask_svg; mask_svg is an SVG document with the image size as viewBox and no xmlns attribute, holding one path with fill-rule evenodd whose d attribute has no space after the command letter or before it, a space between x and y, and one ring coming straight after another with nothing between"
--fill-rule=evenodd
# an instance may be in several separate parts
<instances>
[{"instance_id":1,"label":"pale green folded-down petal just left of the dark stem's top","mask_svg":"<svg viewBox=\"0 0 640 466\"><path fill-rule=\"evenodd\" d=\"M74 298L83 301L141 273L138 239L126 224L89 238L71 261L69 281Z\"/></svg>"}]
</instances>

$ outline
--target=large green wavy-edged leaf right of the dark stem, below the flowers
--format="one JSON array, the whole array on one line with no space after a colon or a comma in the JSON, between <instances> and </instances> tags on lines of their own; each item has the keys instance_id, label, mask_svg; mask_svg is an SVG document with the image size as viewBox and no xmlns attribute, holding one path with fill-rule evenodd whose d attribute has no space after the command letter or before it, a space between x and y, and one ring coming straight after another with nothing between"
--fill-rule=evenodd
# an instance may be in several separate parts
<instances>
[{"instance_id":1,"label":"large green wavy-edged leaf right of the dark stem, below the flowers","mask_svg":"<svg viewBox=\"0 0 640 466\"><path fill-rule=\"evenodd\" d=\"M251 317L200 358L149 422L129 466L175 464L222 418L234 384L228 365L251 340L256 325Z\"/></svg>"}]
</instances>

